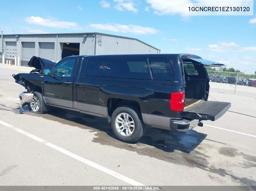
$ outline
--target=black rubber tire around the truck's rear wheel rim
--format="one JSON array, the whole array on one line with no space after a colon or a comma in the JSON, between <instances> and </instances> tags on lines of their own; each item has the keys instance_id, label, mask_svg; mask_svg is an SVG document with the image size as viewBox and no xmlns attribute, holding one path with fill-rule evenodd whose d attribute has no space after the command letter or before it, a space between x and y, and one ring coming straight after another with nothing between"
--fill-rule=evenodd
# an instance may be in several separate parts
<instances>
[{"instance_id":1,"label":"black rubber tire around the truck's rear wheel rim","mask_svg":"<svg viewBox=\"0 0 256 191\"><path fill-rule=\"evenodd\" d=\"M133 133L129 136L121 135L116 129L115 120L120 113L129 114L134 121L134 130L133 130ZM127 143L138 141L146 131L146 127L143 123L140 110L137 107L133 107L129 105L121 106L115 109L115 111L112 113L112 116L111 116L111 128L115 136L120 141L127 142Z\"/></svg>"}]
</instances>

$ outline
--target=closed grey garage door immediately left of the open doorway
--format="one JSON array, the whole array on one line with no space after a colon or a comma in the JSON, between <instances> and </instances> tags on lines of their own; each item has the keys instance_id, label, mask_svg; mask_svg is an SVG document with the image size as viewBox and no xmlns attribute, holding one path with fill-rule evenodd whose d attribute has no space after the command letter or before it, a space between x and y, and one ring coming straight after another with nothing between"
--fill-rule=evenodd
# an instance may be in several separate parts
<instances>
[{"instance_id":1,"label":"closed grey garage door immediately left of the open doorway","mask_svg":"<svg viewBox=\"0 0 256 191\"><path fill-rule=\"evenodd\" d=\"M54 43L39 43L39 57L54 60Z\"/></svg>"}]
</instances>

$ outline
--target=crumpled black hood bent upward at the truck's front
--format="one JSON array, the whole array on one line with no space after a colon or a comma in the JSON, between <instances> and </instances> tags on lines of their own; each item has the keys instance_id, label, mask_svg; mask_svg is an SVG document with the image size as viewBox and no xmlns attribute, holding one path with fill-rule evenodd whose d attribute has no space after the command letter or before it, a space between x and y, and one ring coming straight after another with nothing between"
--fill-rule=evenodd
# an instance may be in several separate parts
<instances>
[{"instance_id":1,"label":"crumpled black hood bent upward at the truck's front","mask_svg":"<svg viewBox=\"0 0 256 191\"><path fill-rule=\"evenodd\" d=\"M36 56L33 56L28 62L29 67L36 69L51 69L55 64L55 62Z\"/></svg>"}]
</instances>

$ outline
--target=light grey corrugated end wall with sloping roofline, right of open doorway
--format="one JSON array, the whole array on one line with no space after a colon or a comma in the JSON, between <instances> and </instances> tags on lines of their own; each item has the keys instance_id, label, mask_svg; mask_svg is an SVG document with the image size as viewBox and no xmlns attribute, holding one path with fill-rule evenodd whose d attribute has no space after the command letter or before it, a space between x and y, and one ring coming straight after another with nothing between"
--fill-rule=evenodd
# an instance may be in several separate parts
<instances>
[{"instance_id":1,"label":"light grey corrugated end wall with sloping roofline, right of open doorway","mask_svg":"<svg viewBox=\"0 0 256 191\"><path fill-rule=\"evenodd\" d=\"M105 54L157 54L158 50L138 40L97 34L96 55Z\"/></svg>"}]
</instances>

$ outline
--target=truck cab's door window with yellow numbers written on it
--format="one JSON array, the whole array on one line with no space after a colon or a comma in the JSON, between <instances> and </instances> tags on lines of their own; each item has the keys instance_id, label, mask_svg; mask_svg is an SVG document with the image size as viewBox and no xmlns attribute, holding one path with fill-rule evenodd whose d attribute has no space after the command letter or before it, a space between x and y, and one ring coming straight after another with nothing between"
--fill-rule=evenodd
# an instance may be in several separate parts
<instances>
[{"instance_id":1,"label":"truck cab's door window with yellow numbers written on it","mask_svg":"<svg viewBox=\"0 0 256 191\"><path fill-rule=\"evenodd\" d=\"M55 66L53 76L71 77L75 64L74 59L67 59Z\"/></svg>"}]
</instances>

